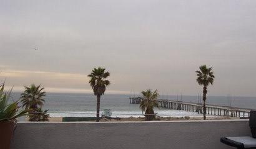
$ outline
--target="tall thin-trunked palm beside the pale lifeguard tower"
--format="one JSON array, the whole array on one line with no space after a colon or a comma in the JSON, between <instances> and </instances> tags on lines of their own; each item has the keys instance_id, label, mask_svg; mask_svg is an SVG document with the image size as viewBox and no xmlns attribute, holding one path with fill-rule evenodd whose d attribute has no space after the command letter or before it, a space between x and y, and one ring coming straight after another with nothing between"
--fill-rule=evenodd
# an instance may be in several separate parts
<instances>
[{"instance_id":1,"label":"tall thin-trunked palm beside the pale lifeguard tower","mask_svg":"<svg viewBox=\"0 0 256 149\"><path fill-rule=\"evenodd\" d=\"M99 108L100 108L100 102L101 102L101 96L106 91L106 86L110 84L110 81L107 80L107 77L110 75L110 73L107 71L105 72L105 68L94 68L92 70L92 73L88 75L91 79L89 81L89 84L91 85L94 95L97 96L97 122L99 122Z\"/></svg>"}]
</instances>

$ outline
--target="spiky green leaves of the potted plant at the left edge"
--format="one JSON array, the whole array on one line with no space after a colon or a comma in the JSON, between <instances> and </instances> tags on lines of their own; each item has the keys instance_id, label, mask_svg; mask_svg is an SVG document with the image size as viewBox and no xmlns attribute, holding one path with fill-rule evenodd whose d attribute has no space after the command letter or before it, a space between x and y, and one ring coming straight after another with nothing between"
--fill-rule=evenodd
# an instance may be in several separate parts
<instances>
[{"instance_id":1,"label":"spiky green leaves of the potted plant at the left edge","mask_svg":"<svg viewBox=\"0 0 256 149\"><path fill-rule=\"evenodd\" d=\"M11 96L11 91L9 93L4 92L4 83L0 86L0 122L14 120L22 115L26 115L29 109L24 111L19 111L19 101L8 103Z\"/></svg>"}]
</instances>

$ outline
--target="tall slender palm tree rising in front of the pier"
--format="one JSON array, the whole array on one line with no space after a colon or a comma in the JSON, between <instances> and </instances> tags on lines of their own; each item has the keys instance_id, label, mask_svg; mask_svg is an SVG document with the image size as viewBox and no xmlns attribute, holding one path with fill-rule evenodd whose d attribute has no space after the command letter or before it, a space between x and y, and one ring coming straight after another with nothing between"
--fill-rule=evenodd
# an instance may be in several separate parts
<instances>
[{"instance_id":1,"label":"tall slender palm tree rising in front of the pier","mask_svg":"<svg viewBox=\"0 0 256 149\"><path fill-rule=\"evenodd\" d=\"M209 84L214 84L214 72L212 71L212 67L207 68L206 65L202 65L199 67L199 71L195 71L197 73L197 83L199 85L204 86L203 88L203 111L204 111L204 120L206 119L206 107L205 107L205 101L206 101L206 94L207 94L207 86Z\"/></svg>"}]
</instances>

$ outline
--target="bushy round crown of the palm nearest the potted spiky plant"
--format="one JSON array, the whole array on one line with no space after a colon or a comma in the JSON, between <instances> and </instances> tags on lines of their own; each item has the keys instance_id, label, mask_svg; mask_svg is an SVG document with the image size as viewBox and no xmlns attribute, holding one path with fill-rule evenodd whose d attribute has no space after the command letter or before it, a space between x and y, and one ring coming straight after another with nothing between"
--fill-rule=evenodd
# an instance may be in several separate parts
<instances>
[{"instance_id":1,"label":"bushy round crown of the palm nearest the potted spiky plant","mask_svg":"<svg viewBox=\"0 0 256 149\"><path fill-rule=\"evenodd\" d=\"M36 86L35 84L31 84L31 86L24 86L25 91L21 94L21 102L22 107L25 109L32 109L36 111L39 107L42 107L44 104L44 96L46 96L46 92L44 92L44 88L41 88L41 85Z\"/></svg>"}]
</instances>

